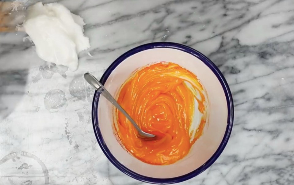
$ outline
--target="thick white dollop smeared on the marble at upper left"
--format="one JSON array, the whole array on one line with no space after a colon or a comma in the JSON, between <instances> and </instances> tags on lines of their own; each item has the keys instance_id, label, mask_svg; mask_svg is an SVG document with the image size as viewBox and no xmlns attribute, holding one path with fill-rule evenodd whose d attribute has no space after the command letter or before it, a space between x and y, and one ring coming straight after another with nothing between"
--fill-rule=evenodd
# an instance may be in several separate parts
<instances>
[{"instance_id":1,"label":"thick white dollop smeared on the marble at upper left","mask_svg":"<svg viewBox=\"0 0 294 185\"><path fill-rule=\"evenodd\" d=\"M78 53L90 47L83 18L59 3L38 2L28 8L23 28L36 45L37 55L57 65L78 68Z\"/></svg>"}]
</instances>

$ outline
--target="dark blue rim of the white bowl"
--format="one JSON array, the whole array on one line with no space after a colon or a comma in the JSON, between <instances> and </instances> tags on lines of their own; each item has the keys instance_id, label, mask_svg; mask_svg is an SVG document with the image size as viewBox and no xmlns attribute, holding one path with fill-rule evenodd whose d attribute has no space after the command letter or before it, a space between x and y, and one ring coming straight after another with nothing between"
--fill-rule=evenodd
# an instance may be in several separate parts
<instances>
[{"instance_id":1,"label":"dark blue rim of the white bowl","mask_svg":"<svg viewBox=\"0 0 294 185\"><path fill-rule=\"evenodd\" d=\"M152 178L152 177L147 177L140 175L136 172L133 172L132 170L128 169L125 167L123 164L121 164L116 158L112 155L112 153L109 151L107 145L105 144L100 128L99 128L99 123L98 123L98 103L99 103L99 96L100 94L95 91L94 97L93 97L93 103L92 103L92 123L93 123L93 128L94 128L94 133L97 139L98 144L100 145L103 153L105 156L109 159L109 161L116 167L118 168L121 172L125 173L126 175L137 179L142 182L146 183L153 183L153 184L172 184L172 183L179 183L183 182L185 180L191 179L200 173L204 172L209 166L211 166L216 159L220 156L220 154L223 152L223 149L227 145L228 139L231 135L232 131L232 126L233 126L233 119L234 119L234 105L233 105L233 98L232 94L229 88L229 85L227 84L227 81L225 80L223 74L220 72L220 70L217 68L217 66L209 60L206 56L204 56L202 53L199 51L179 44L179 43L172 43L172 42L154 42L154 43L147 43L143 44L141 46L135 47L127 52L125 52L123 55L118 57L105 71L105 73L102 75L100 82L104 85L107 78L111 74L111 72L118 66L121 62L123 62L125 59L128 57L144 50L148 49L154 49L154 48L172 48L172 49L177 49L180 51L184 51L186 53L189 53L198 59L200 59L206 66L212 70L212 72L216 75L218 80L220 81L220 84L223 87L223 91L226 96L227 100L227 109L228 109L228 117L227 117L227 128L223 137L223 140L220 143L220 146L216 150L216 152L210 157L203 165L201 165L199 168L195 169L192 172L189 172L185 175L178 176L178 177L173 177L173 178Z\"/></svg>"}]
</instances>

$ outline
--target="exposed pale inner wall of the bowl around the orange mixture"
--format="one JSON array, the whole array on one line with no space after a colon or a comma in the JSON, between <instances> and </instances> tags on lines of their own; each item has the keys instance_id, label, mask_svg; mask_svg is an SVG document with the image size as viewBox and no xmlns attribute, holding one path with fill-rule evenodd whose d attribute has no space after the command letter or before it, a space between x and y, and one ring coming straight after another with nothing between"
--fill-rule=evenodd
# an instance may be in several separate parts
<instances>
[{"instance_id":1,"label":"exposed pale inner wall of the bowl around the orange mixture","mask_svg":"<svg viewBox=\"0 0 294 185\"><path fill-rule=\"evenodd\" d=\"M174 164L163 166L146 164L133 157L116 140L113 133L113 106L103 96L100 96L98 103L98 122L105 144L121 164L143 176L172 178L194 171L212 157L225 134L228 110L223 88L215 74L195 56L172 48L149 49L128 57L110 74L105 82L105 88L115 96L132 72L150 63L161 61L176 63L196 74L207 91L208 123L187 156Z\"/></svg>"}]
</instances>

